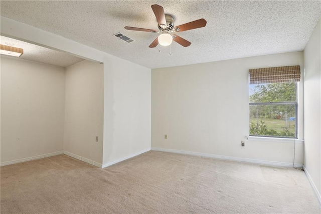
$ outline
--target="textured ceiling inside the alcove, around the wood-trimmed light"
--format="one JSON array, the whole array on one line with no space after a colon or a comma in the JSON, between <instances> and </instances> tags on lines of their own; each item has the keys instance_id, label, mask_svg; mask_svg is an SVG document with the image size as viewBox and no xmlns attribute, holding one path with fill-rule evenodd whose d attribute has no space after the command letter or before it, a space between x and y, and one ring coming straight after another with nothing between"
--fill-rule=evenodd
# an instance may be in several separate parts
<instances>
[{"instance_id":1,"label":"textured ceiling inside the alcove, around the wood-trimmed light","mask_svg":"<svg viewBox=\"0 0 321 214\"><path fill-rule=\"evenodd\" d=\"M83 60L67 53L55 51L5 36L0 36L0 43L2 45L8 45L6 43L11 43L14 44L14 47L24 49L24 54L20 57L21 59L42 62L50 65L67 67Z\"/></svg>"}]
</instances>

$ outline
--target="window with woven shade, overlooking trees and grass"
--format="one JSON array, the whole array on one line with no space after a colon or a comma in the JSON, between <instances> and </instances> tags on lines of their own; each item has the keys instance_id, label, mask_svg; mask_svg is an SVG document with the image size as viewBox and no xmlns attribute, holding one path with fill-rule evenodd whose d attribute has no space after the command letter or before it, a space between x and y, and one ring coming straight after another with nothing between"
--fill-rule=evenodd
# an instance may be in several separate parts
<instances>
[{"instance_id":1,"label":"window with woven shade, overlooking trees and grass","mask_svg":"<svg viewBox=\"0 0 321 214\"><path fill-rule=\"evenodd\" d=\"M249 70L250 136L297 137L299 66Z\"/></svg>"}]
</instances>

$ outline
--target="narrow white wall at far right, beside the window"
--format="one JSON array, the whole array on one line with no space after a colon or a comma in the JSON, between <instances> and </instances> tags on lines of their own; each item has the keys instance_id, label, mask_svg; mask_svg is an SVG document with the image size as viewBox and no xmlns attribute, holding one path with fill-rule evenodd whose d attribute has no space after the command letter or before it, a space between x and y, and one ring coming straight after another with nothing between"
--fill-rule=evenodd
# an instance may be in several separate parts
<instances>
[{"instance_id":1,"label":"narrow white wall at far right, beside the window","mask_svg":"<svg viewBox=\"0 0 321 214\"><path fill-rule=\"evenodd\" d=\"M321 20L304 49L304 166L321 201Z\"/></svg>"}]
</instances>

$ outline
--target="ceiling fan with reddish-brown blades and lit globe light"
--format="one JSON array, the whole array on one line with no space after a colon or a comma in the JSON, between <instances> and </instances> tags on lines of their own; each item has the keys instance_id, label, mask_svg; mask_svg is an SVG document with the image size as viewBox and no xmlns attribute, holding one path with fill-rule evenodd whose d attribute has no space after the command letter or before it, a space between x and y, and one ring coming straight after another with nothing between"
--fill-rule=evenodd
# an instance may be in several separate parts
<instances>
[{"instance_id":1,"label":"ceiling fan with reddish-brown blades and lit globe light","mask_svg":"<svg viewBox=\"0 0 321 214\"><path fill-rule=\"evenodd\" d=\"M193 22L189 22L189 23L174 27L174 17L169 14L165 14L164 8L162 6L152 5L151 9L154 12L155 17L157 19L159 30L135 28L135 27L128 27L128 26L125 27L126 30L131 30L131 31L144 31L144 32L151 32L151 33L161 33L161 35L159 35L148 46L149 48L154 48L158 44L163 45L163 46L168 46L168 45L172 44L173 40L184 47L188 47L192 43L187 41L186 39L183 39L182 37L179 37L175 33L182 32L182 31L188 31L188 30L192 30L192 29L196 29L196 28L203 28L206 26L206 20L199 19L199 20L195 20Z\"/></svg>"}]
</instances>

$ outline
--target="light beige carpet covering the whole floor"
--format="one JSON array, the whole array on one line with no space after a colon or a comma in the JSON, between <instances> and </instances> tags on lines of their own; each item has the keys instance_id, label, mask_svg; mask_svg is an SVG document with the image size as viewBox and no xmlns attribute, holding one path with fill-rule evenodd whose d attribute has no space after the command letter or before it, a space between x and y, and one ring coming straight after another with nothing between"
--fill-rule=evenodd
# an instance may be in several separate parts
<instances>
[{"instance_id":1,"label":"light beige carpet covering the whole floor","mask_svg":"<svg viewBox=\"0 0 321 214\"><path fill-rule=\"evenodd\" d=\"M66 155L1 167L1 213L317 213L303 171L150 151L105 169Z\"/></svg>"}]
</instances>

